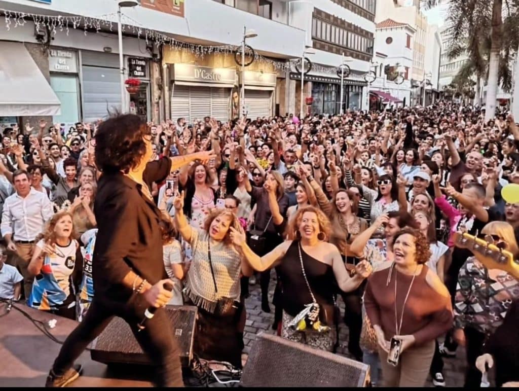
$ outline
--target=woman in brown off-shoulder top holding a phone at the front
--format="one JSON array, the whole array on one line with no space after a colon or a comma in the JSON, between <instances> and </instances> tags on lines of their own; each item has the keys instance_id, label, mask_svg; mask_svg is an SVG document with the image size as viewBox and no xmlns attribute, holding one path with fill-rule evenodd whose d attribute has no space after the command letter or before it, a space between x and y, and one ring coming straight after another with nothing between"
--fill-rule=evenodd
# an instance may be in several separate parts
<instances>
[{"instance_id":1,"label":"woman in brown off-shoulder top holding a phone at the front","mask_svg":"<svg viewBox=\"0 0 519 391\"><path fill-rule=\"evenodd\" d=\"M422 387L434 340L452 327L447 288L426 265L429 243L414 228L394 236L394 262L368 279L364 305L375 329L385 386ZM401 341L396 366L387 362L390 341Z\"/></svg>"}]
</instances>

